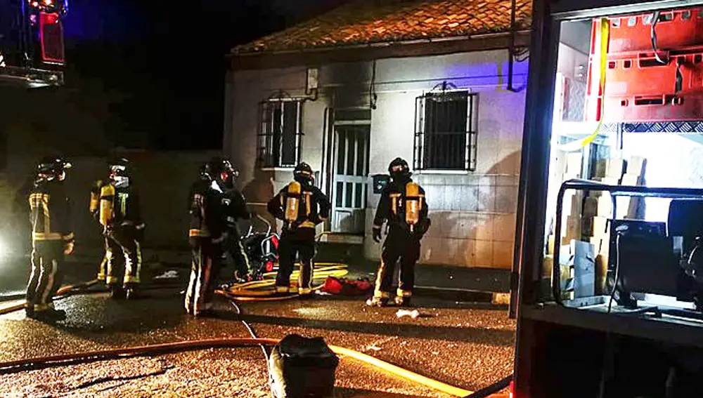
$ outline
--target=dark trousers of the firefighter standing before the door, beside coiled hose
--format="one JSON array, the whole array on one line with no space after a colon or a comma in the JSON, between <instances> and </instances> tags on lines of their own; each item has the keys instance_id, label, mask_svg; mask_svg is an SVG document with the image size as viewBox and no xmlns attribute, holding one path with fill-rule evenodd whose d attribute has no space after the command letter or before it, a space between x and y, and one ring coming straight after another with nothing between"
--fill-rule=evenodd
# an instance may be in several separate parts
<instances>
[{"instance_id":1,"label":"dark trousers of the firefighter standing before the door, beside coiled hose","mask_svg":"<svg viewBox=\"0 0 703 398\"><path fill-rule=\"evenodd\" d=\"M285 230L278 243L278 274L276 275L276 292L290 292L290 275L293 273L295 259L300 260L298 275L298 293L312 293L313 258L315 256L315 229L299 227Z\"/></svg>"}]
</instances>

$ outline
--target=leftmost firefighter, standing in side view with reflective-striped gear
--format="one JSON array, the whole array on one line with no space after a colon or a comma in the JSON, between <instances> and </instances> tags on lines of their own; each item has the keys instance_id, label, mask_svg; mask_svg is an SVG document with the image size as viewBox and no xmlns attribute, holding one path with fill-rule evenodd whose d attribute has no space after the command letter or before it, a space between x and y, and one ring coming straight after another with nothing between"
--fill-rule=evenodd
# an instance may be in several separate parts
<instances>
[{"instance_id":1,"label":"leftmost firefighter, standing in side view with reflective-striped gear","mask_svg":"<svg viewBox=\"0 0 703 398\"><path fill-rule=\"evenodd\" d=\"M32 273L27 284L27 317L58 321L65 312L53 308L63 279L64 256L73 253L71 207L63 181L71 164L60 157L41 159L30 190Z\"/></svg>"}]
</instances>

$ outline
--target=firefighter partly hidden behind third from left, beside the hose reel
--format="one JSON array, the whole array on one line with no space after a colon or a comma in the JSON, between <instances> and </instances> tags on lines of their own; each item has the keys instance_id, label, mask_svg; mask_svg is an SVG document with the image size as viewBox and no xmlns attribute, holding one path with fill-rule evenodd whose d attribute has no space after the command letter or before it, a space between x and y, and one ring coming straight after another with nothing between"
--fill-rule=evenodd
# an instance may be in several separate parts
<instances>
[{"instance_id":1,"label":"firefighter partly hidden behind third from left, beside the hose reel","mask_svg":"<svg viewBox=\"0 0 703 398\"><path fill-rule=\"evenodd\" d=\"M227 227L227 240L223 247L223 260L231 258L235 267L235 280L237 282L247 282L258 279L255 274L249 256L244 250L241 242L238 220L250 220L252 213L247 209L247 200L242 192L234 185L234 180L239 176L230 161L222 160L224 171L220 178L223 183L223 211Z\"/></svg>"}]
</instances>

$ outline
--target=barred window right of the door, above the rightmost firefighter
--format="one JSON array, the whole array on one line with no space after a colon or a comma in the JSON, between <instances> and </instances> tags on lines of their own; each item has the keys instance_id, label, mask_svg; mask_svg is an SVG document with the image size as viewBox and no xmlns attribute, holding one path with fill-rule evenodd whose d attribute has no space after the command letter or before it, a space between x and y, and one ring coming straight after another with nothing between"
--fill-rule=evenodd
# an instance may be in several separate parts
<instances>
[{"instance_id":1,"label":"barred window right of the door, above the rightmost firefighter","mask_svg":"<svg viewBox=\"0 0 703 398\"><path fill-rule=\"evenodd\" d=\"M415 102L415 170L474 171L477 94L447 91L420 95Z\"/></svg>"}]
</instances>

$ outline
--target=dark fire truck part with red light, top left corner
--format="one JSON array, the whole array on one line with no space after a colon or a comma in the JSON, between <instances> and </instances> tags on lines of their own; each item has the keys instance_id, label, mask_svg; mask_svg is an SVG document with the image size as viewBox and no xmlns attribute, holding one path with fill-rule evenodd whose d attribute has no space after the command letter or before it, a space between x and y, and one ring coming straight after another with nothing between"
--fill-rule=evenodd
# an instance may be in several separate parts
<instances>
[{"instance_id":1,"label":"dark fire truck part with red light, top left corner","mask_svg":"<svg viewBox=\"0 0 703 398\"><path fill-rule=\"evenodd\" d=\"M0 84L29 88L63 84L63 18L68 0L0 3Z\"/></svg>"}]
</instances>

